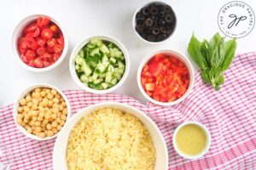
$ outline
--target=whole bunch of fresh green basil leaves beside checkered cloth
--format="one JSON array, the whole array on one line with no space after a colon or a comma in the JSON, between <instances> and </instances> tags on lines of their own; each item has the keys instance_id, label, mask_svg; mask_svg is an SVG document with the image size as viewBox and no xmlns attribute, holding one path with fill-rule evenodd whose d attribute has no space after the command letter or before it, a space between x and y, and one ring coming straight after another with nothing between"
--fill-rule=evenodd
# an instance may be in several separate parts
<instances>
[{"instance_id":1,"label":"whole bunch of fresh green basil leaves beside checkered cloth","mask_svg":"<svg viewBox=\"0 0 256 170\"><path fill-rule=\"evenodd\" d=\"M216 33L210 42L199 42L193 34L188 51L191 59L201 68L201 79L219 90L224 84L224 71L230 67L235 55L236 39L225 42L224 37Z\"/></svg>"}]
</instances>

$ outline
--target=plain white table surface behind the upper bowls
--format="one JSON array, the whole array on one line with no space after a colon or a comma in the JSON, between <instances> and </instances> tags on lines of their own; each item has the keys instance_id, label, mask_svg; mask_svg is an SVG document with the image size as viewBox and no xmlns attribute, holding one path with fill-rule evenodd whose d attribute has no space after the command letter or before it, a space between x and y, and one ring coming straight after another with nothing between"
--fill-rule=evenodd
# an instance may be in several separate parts
<instances>
[{"instance_id":1,"label":"plain white table surface behind the upper bowls","mask_svg":"<svg viewBox=\"0 0 256 170\"><path fill-rule=\"evenodd\" d=\"M177 29L172 37L159 45L148 45L132 31L134 11L146 0L1 0L0 1L0 106L12 104L21 91L33 83L49 83L62 90L80 89L68 69L69 54L73 47L96 34L108 34L123 42L131 58L131 71L125 83L113 93L129 95L142 102L136 75L144 56L160 49L174 49L187 54L189 38L210 38L218 29L218 11L230 0L169 0L177 14ZM247 0L254 12L256 1ZM11 36L17 23L30 14L48 14L67 29L69 51L67 58L54 71L43 74L24 70L15 60ZM222 34L223 35L223 34ZM256 29L238 39L236 54L256 51ZM196 67L195 67L196 68Z\"/></svg>"}]
</instances>

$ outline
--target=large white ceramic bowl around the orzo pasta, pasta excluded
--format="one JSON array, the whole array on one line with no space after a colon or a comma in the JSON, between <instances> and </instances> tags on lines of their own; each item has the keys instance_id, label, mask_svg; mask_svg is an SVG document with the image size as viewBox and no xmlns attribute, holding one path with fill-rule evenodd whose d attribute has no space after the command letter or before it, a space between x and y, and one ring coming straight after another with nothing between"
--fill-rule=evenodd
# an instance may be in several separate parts
<instances>
[{"instance_id":1,"label":"large white ceramic bowl around the orzo pasta, pasta excluded","mask_svg":"<svg viewBox=\"0 0 256 170\"><path fill-rule=\"evenodd\" d=\"M155 125L155 123L144 114L142 111L137 110L136 108L115 103L115 102L105 102L97 105L90 105L79 111L75 116L73 116L65 127L61 130L61 133L58 135L55 141L55 147L53 151L53 167L55 170L67 170L67 162L66 162L66 151L67 151L67 142L69 138L69 133L73 129L73 127L79 122L79 120L92 111L95 111L102 107L112 107L116 109L120 109L123 111L127 111L131 113L133 116L137 116L137 118L143 122L145 127L147 127L148 132L151 134L153 139L154 148L156 150L156 162L155 162L155 170L167 170L168 169L168 153L166 148L165 139L160 133L159 128Z\"/></svg>"}]
</instances>

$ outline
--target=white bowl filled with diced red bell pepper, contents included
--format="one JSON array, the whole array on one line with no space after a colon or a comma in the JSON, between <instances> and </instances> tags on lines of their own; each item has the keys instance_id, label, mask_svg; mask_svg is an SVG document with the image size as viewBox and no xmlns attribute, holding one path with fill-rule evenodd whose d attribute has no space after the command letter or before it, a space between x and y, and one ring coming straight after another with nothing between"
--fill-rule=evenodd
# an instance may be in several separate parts
<instances>
[{"instance_id":1,"label":"white bowl filled with diced red bell pepper, contents included","mask_svg":"<svg viewBox=\"0 0 256 170\"><path fill-rule=\"evenodd\" d=\"M137 83L143 96L156 105L176 105L188 95L194 83L189 59L172 50L161 50L143 59Z\"/></svg>"}]
</instances>

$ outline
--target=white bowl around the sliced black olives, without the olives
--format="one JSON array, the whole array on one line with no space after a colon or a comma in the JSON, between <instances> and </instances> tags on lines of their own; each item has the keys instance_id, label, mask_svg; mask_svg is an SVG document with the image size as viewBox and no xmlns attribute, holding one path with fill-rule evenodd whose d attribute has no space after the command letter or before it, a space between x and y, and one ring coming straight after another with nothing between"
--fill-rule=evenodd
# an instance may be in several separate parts
<instances>
[{"instance_id":1,"label":"white bowl around the sliced black olives, without the olives","mask_svg":"<svg viewBox=\"0 0 256 170\"><path fill-rule=\"evenodd\" d=\"M135 34L137 35L137 37L138 37L139 39L141 39L143 42L147 42L148 44L159 44L159 43L162 43L162 42L166 42L166 40L168 40L170 37L172 37L172 35L173 35L173 33L174 33L174 31L176 30L176 27L177 27L177 15L175 14L175 11L173 10L173 8L172 8L172 11L173 11L173 14L174 14L175 19L176 19L176 22L175 22L176 24L175 24L175 27L174 27L174 29L173 29L173 31L172 31L172 34L171 34L169 37L167 37L165 40L162 40L162 41L160 41L160 42L149 42L148 40L146 40L146 39L144 39L143 37L141 37L141 36L139 35L139 33L136 31L136 29L135 29L135 27L136 27L136 14L137 14L142 8L148 6L150 3L160 3L160 4L164 4L164 5L169 5L169 6L172 8L172 6L171 6L169 3L166 3L166 2L164 2L164 1L150 1L150 2L147 2L147 3L143 3L143 5L139 6L139 7L136 9L136 11L134 12L134 14L133 14L133 17L132 17L132 29L133 29L133 31L135 32Z\"/></svg>"}]
</instances>

